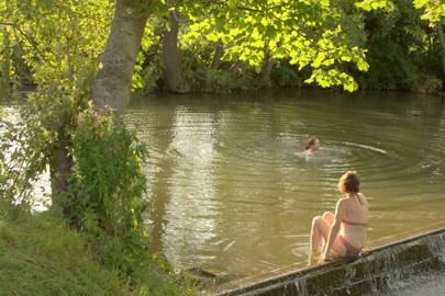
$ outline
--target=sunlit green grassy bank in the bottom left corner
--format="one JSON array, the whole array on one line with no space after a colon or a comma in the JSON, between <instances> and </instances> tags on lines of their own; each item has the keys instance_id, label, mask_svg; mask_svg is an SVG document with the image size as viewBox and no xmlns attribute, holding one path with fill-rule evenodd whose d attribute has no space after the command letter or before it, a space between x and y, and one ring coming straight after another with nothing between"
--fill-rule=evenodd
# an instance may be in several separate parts
<instances>
[{"instance_id":1,"label":"sunlit green grassy bank in the bottom left corner","mask_svg":"<svg viewBox=\"0 0 445 296\"><path fill-rule=\"evenodd\" d=\"M81 234L54 214L0 215L0 295L192 294L159 267L131 287L87 246Z\"/></svg>"}]
</instances>

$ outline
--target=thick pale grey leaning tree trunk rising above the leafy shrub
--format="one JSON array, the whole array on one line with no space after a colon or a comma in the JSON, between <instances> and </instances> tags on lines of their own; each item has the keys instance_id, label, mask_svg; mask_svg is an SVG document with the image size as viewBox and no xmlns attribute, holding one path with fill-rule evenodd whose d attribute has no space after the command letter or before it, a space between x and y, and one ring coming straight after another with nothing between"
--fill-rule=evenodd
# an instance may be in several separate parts
<instances>
[{"instance_id":1,"label":"thick pale grey leaning tree trunk rising above the leafy shrub","mask_svg":"<svg viewBox=\"0 0 445 296\"><path fill-rule=\"evenodd\" d=\"M147 14L136 12L130 2L116 0L110 35L92 87L92 100L101 112L108 105L122 113L130 102L133 69L147 21Z\"/></svg>"}]
</instances>

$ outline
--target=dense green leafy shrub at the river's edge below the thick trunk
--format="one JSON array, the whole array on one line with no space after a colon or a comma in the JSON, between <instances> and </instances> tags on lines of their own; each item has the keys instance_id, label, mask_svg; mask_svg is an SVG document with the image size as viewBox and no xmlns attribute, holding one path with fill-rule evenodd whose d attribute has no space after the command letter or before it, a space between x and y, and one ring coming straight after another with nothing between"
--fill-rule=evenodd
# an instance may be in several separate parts
<instances>
[{"instance_id":1,"label":"dense green leafy shrub at the river's edge below the thick trunk","mask_svg":"<svg viewBox=\"0 0 445 296\"><path fill-rule=\"evenodd\" d=\"M147 257L143 213L148 205L141 164L147 156L114 113L79 113L73 130L74 168L62 196L70 225L87 232L104 264L132 275Z\"/></svg>"}]
</instances>

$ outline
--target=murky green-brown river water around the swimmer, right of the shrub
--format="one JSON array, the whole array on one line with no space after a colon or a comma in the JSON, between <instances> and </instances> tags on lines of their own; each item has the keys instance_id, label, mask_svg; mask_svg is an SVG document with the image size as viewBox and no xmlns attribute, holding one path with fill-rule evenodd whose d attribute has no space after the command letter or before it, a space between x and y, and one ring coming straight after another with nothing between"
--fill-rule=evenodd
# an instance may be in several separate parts
<instances>
[{"instance_id":1,"label":"murky green-brown river water around the swimmer, right of the shrub","mask_svg":"<svg viewBox=\"0 0 445 296\"><path fill-rule=\"evenodd\" d=\"M399 93L280 92L134 100L149 147L153 248L176 269L240 276L301 264L312 216L357 170L369 242L445 221L445 100ZM310 135L322 148L293 156Z\"/></svg>"}]
</instances>

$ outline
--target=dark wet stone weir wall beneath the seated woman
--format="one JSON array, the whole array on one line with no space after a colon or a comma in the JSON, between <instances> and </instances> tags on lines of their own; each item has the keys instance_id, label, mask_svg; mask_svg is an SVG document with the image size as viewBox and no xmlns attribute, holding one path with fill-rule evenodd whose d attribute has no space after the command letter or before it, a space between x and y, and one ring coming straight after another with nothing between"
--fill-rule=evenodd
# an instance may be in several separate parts
<instances>
[{"instance_id":1,"label":"dark wet stone weir wall beneath the seated woman","mask_svg":"<svg viewBox=\"0 0 445 296\"><path fill-rule=\"evenodd\" d=\"M257 282L233 282L212 294L264 296L385 293L422 274L445 270L445 228L372 249L368 255L282 272Z\"/></svg>"}]
</instances>

